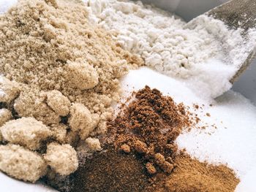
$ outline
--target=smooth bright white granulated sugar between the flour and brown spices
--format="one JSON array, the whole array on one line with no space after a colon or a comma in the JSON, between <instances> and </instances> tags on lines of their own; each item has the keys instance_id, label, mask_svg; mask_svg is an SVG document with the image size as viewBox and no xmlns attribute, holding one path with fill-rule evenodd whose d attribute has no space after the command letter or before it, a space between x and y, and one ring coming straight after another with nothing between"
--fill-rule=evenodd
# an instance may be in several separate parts
<instances>
[{"instance_id":1,"label":"smooth bright white granulated sugar between the flour and brown spices","mask_svg":"<svg viewBox=\"0 0 256 192\"><path fill-rule=\"evenodd\" d=\"M143 77L143 78L142 78ZM228 91L215 100L204 100L193 93L185 82L174 80L142 68L131 71L122 80L128 91L137 91L145 85L157 88L165 95L172 96L174 101L192 105L199 104L197 110L201 125L208 125L206 130L192 129L181 134L176 142L180 149L186 148L192 157L213 164L227 164L234 169L241 179L238 191L253 188L256 191L256 107L240 93ZM126 96L129 95L126 92ZM209 104L213 104L210 107ZM208 112L211 117L206 115ZM217 126L217 129L212 125Z\"/></svg>"}]
</instances>

